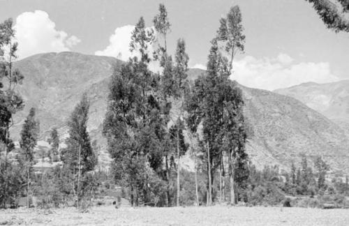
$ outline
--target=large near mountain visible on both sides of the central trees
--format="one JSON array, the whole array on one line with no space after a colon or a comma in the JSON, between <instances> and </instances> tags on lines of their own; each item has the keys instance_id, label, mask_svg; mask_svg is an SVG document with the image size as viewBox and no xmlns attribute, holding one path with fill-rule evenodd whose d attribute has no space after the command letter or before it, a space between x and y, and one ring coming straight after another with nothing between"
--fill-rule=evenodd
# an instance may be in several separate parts
<instances>
[{"instance_id":1,"label":"large near mountain visible on both sides of the central trees","mask_svg":"<svg viewBox=\"0 0 349 226\"><path fill-rule=\"evenodd\" d=\"M67 135L66 121L73 107L87 92L90 100L88 130L91 140L100 147L102 165L110 161L101 135L106 111L108 84L114 68L121 61L112 57L97 57L73 52L38 54L15 63L24 74L18 86L26 107L15 115L11 133L19 137L20 129L30 107L36 107L40 119L40 140L47 140L54 126L61 137ZM189 70L188 80L205 71ZM245 115L249 128L247 151L253 163L279 164L288 168L292 159L302 153L313 160L321 155L332 169L349 172L348 137L335 123L306 107L299 100L270 91L240 86L245 98ZM175 114L175 110L172 114ZM62 139L63 140L63 139Z\"/></svg>"}]
</instances>

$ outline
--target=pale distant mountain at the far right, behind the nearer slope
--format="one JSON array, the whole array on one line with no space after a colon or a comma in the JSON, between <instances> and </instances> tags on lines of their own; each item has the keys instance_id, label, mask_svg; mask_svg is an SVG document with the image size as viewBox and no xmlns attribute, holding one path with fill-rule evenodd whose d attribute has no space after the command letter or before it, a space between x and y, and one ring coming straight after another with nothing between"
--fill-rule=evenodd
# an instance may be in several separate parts
<instances>
[{"instance_id":1,"label":"pale distant mountain at the far right, behind the nearer slope","mask_svg":"<svg viewBox=\"0 0 349 226\"><path fill-rule=\"evenodd\" d=\"M326 84L308 82L275 92L300 100L349 132L349 80Z\"/></svg>"}]
</instances>

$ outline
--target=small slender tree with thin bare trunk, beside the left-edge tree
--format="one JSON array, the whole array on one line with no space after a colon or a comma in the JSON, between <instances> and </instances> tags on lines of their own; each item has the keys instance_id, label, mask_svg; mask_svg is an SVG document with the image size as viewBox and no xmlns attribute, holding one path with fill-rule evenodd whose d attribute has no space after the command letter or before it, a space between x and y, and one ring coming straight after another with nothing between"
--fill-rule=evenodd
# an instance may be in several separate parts
<instances>
[{"instance_id":1,"label":"small slender tree with thin bare trunk, beside the left-edge tree","mask_svg":"<svg viewBox=\"0 0 349 226\"><path fill-rule=\"evenodd\" d=\"M27 119L24 121L20 147L22 149L22 161L27 169L27 207L29 208L29 186L30 174L34 165L34 147L36 146L39 134L39 122L35 119L35 108L31 108Z\"/></svg>"}]
</instances>

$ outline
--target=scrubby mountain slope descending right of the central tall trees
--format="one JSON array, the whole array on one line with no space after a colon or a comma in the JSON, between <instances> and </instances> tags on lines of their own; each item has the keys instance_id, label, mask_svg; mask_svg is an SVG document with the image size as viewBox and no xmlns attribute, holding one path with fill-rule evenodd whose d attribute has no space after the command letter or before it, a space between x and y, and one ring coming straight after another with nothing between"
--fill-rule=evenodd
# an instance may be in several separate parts
<instances>
[{"instance_id":1,"label":"scrubby mountain slope descending right of the central tall trees","mask_svg":"<svg viewBox=\"0 0 349 226\"><path fill-rule=\"evenodd\" d=\"M260 89L242 87L245 115L253 128L251 156L257 162L277 160L290 165L305 154L323 156L332 169L348 171L348 137L335 123L299 100ZM264 159L264 161L263 161Z\"/></svg>"}]
</instances>

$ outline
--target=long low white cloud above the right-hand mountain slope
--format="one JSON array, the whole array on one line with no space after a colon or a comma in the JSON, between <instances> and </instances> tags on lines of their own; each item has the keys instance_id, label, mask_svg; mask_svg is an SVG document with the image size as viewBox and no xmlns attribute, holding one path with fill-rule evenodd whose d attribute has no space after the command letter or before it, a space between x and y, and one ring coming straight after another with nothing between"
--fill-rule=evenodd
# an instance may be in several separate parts
<instances>
[{"instance_id":1,"label":"long low white cloud above the right-hand mountain slope","mask_svg":"<svg viewBox=\"0 0 349 226\"><path fill-rule=\"evenodd\" d=\"M276 58L247 56L235 61L232 80L244 86L258 89L280 89L303 82L335 82L339 80L331 71L329 63L302 62L292 63L287 54L279 54Z\"/></svg>"}]
</instances>

